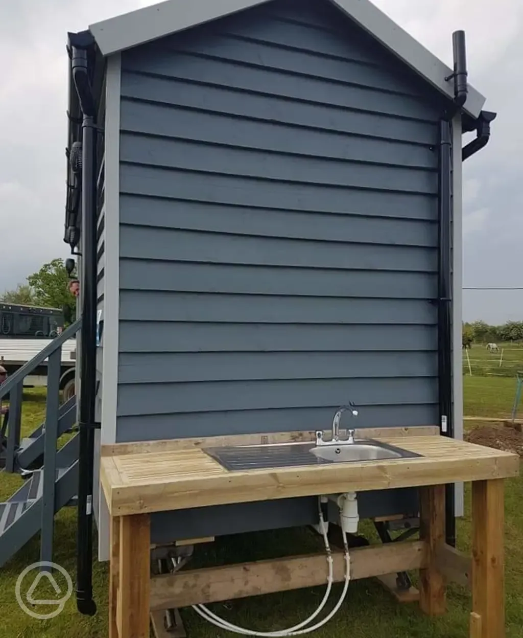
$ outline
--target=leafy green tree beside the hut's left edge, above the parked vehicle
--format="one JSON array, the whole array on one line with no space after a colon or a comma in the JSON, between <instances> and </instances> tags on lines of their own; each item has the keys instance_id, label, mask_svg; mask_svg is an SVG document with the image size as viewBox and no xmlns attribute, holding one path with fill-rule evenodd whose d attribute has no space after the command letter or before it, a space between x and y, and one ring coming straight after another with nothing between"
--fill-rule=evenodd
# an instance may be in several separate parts
<instances>
[{"instance_id":1,"label":"leafy green tree beside the hut's left edge, above the parked vehicle","mask_svg":"<svg viewBox=\"0 0 523 638\"><path fill-rule=\"evenodd\" d=\"M66 324L75 317L76 299L69 292L69 275L64 260L58 258L44 263L38 272L27 278L34 304L45 308L61 308Z\"/></svg>"}]
</instances>

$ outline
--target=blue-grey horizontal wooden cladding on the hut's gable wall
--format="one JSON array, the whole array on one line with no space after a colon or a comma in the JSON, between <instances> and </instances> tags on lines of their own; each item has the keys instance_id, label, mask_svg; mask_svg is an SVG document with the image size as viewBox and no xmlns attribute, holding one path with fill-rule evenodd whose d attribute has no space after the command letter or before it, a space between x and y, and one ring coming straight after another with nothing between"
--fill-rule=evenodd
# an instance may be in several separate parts
<instances>
[{"instance_id":1,"label":"blue-grey horizontal wooden cladding on the hut's gable wall","mask_svg":"<svg viewBox=\"0 0 523 638\"><path fill-rule=\"evenodd\" d=\"M121 80L117 440L436 424L431 89L320 0Z\"/></svg>"}]
</instances>

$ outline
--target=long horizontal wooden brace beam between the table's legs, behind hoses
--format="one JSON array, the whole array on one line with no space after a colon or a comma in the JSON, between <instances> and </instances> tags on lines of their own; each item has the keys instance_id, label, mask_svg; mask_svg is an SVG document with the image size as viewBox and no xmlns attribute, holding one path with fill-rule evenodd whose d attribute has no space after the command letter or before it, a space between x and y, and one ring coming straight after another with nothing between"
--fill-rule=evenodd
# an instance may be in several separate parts
<instances>
[{"instance_id":1,"label":"long horizontal wooden brace beam between the table's legs, behind hoses","mask_svg":"<svg viewBox=\"0 0 523 638\"><path fill-rule=\"evenodd\" d=\"M425 545L419 540L351 549L350 577L355 580L420 569L426 567L426 555ZM343 553L334 552L333 559L334 581L342 582ZM150 609L181 608L324 585L327 573L326 554L321 553L154 576Z\"/></svg>"}]
</instances>

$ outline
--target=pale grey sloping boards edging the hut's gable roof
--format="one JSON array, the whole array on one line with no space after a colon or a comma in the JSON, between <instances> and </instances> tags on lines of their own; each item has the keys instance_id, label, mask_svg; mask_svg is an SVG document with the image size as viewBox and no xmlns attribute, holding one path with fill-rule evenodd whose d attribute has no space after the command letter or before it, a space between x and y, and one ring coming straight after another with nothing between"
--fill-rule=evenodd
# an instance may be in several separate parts
<instances>
[{"instance_id":1,"label":"pale grey sloping boards edging the hut's gable roof","mask_svg":"<svg viewBox=\"0 0 523 638\"><path fill-rule=\"evenodd\" d=\"M253 8L271 0L166 0L90 25L103 56ZM325 0L334 4L394 56L448 98L454 98L452 69L380 11L370 0ZM464 112L476 118L485 98L469 85Z\"/></svg>"}]
</instances>

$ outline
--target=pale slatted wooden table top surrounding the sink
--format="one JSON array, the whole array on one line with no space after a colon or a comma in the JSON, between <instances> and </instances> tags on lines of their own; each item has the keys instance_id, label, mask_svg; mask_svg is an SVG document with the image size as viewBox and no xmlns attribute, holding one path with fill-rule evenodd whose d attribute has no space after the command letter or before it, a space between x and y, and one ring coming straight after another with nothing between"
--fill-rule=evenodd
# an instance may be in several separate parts
<instances>
[{"instance_id":1,"label":"pale slatted wooden table top surrounding the sink","mask_svg":"<svg viewBox=\"0 0 523 638\"><path fill-rule=\"evenodd\" d=\"M391 431L392 434L392 431ZM182 510L345 491L505 479L518 475L516 454L431 434L374 436L421 457L294 468L228 471L195 445L169 441L103 450L100 476L111 516ZM222 445L227 437L221 437ZM287 438L287 440L292 440ZM182 440L183 441L183 440ZM208 440L209 447L215 440ZM238 441L230 444L237 445Z\"/></svg>"}]
</instances>

